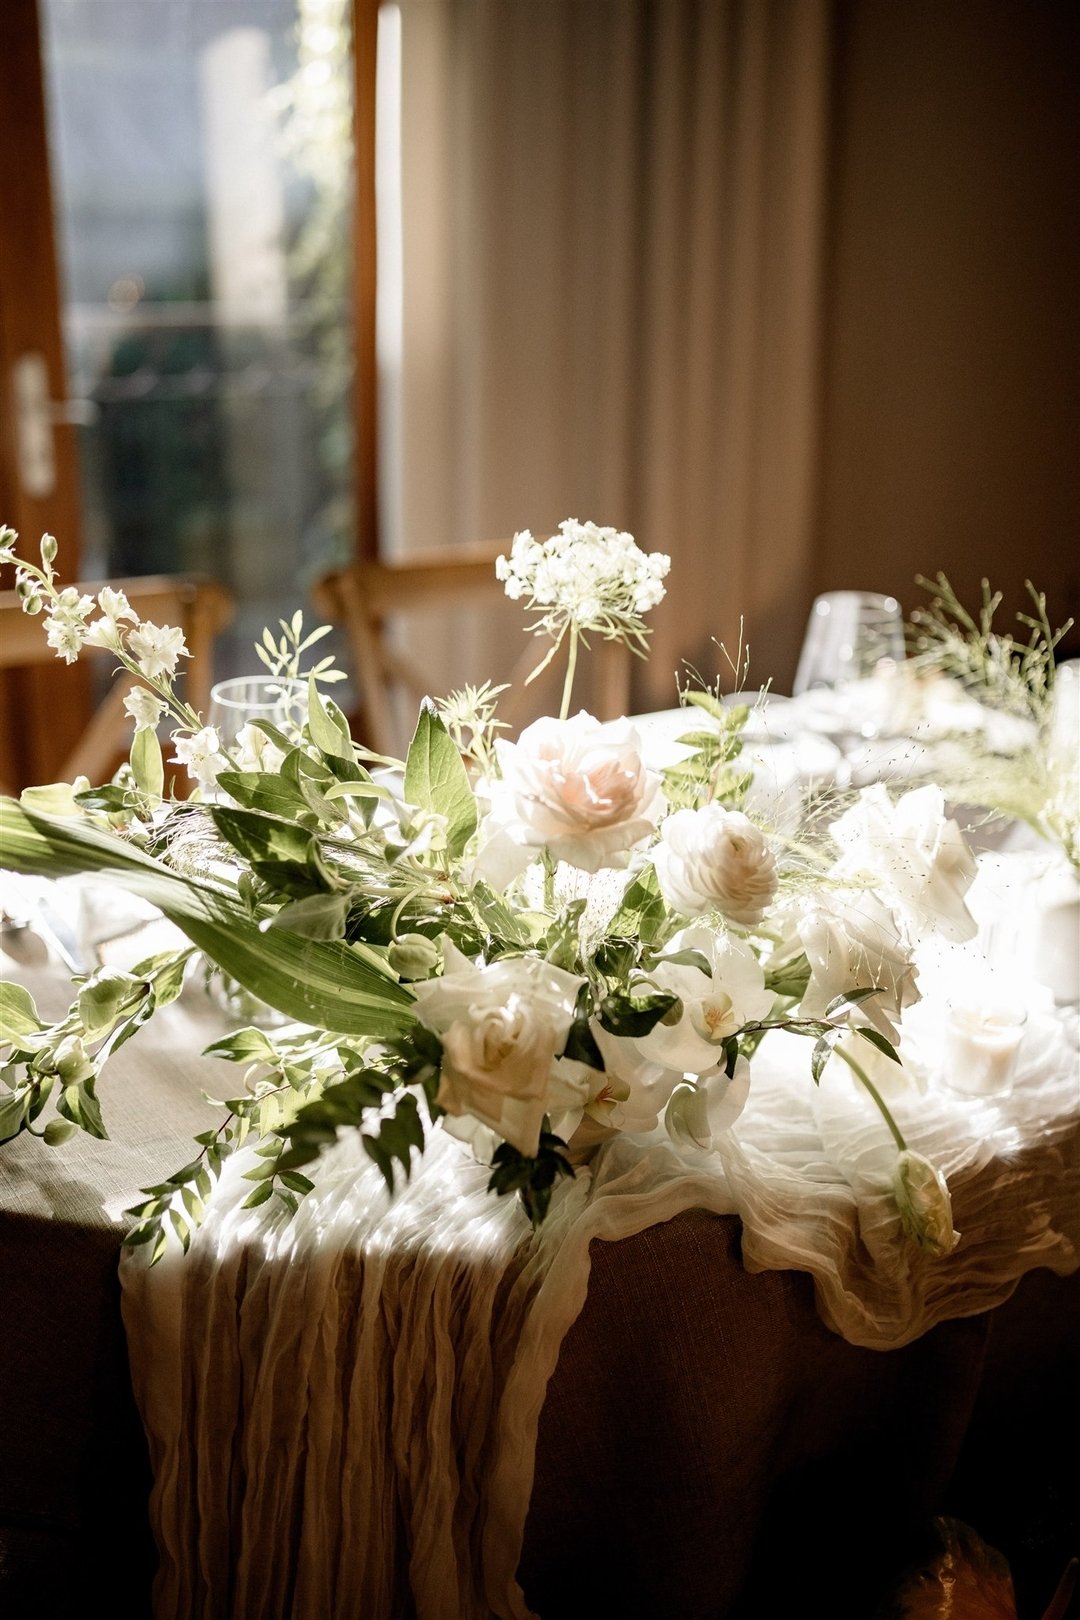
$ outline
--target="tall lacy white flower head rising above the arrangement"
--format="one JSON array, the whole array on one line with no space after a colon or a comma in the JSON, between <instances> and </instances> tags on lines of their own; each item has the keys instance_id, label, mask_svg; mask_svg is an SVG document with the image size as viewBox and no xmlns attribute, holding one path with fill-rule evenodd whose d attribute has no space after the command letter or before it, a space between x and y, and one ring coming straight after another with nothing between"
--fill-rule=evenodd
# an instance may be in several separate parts
<instances>
[{"instance_id":1,"label":"tall lacy white flower head rising above the arrangement","mask_svg":"<svg viewBox=\"0 0 1080 1620\"><path fill-rule=\"evenodd\" d=\"M567 518L551 539L531 531L513 536L510 556L495 562L495 575L512 601L528 601L542 614L539 630L559 635L565 627L602 635L641 635L641 614L664 596L670 557L641 551L633 536L596 523Z\"/></svg>"}]
</instances>

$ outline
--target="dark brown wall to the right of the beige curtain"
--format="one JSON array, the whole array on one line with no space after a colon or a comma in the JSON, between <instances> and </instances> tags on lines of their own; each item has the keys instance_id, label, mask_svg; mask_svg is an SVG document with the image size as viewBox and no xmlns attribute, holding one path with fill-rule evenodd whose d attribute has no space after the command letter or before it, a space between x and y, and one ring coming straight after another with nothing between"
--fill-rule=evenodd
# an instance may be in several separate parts
<instances>
[{"instance_id":1,"label":"dark brown wall to the right of the beige curtain","mask_svg":"<svg viewBox=\"0 0 1080 1620\"><path fill-rule=\"evenodd\" d=\"M1004 622L1030 577L1080 619L1078 18L837 8L816 590L986 573Z\"/></svg>"}]
</instances>

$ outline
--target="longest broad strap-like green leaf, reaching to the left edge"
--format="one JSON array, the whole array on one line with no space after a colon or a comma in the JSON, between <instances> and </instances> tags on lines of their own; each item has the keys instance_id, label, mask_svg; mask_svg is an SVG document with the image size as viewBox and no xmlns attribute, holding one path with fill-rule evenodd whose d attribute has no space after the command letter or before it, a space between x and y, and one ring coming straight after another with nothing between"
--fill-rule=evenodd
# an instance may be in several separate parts
<instances>
[{"instance_id":1,"label":"longest broad strap-like green leaf, reaching to the left edge","mask_svg":"<svg viewBox=\"0 0 1080 1620\"><path fill-rule=\"evenodd\" d=\"M102 828L44 816L0 799L5 865L34 876L91 872L141 894L244 990L290 1019L342 1035L405 1034L413 995L364 944L262 932L228 894L180 876Z\"/></svg>"}]
</instances>

